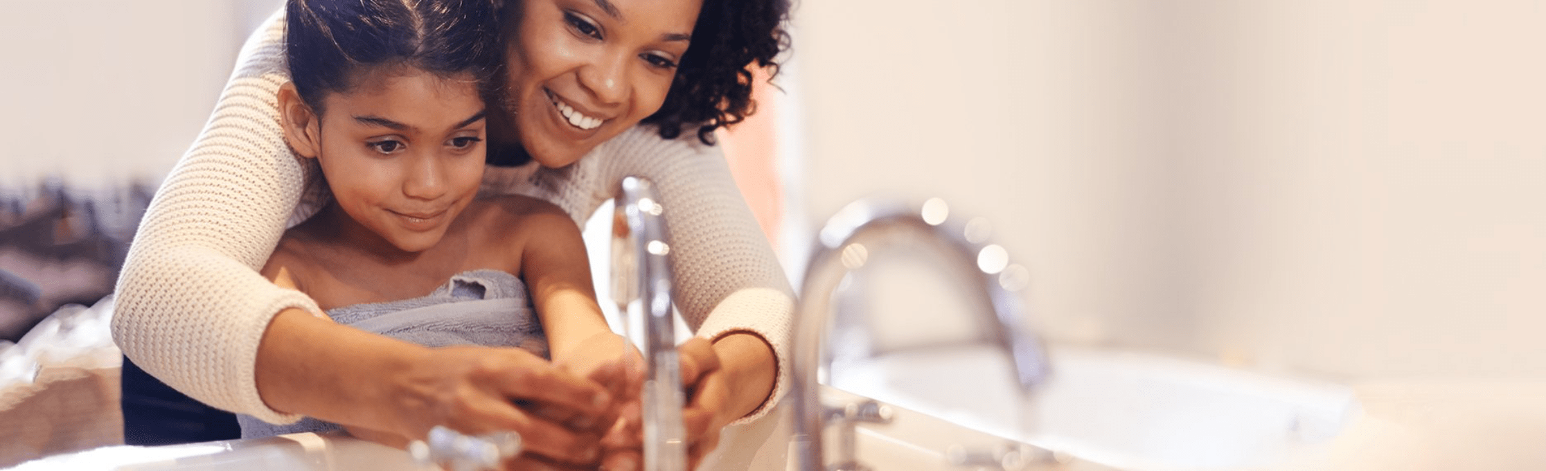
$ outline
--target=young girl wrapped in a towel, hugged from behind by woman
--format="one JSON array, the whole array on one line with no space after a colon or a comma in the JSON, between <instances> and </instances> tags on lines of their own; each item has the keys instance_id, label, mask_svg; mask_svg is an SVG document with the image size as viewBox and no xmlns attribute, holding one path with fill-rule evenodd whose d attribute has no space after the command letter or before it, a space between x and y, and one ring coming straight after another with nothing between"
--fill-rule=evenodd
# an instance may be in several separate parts
<instances>
[{"instance_id":1,"label":"young girl wrapped in a towel, hugged from behind by woman","mask_svg":"<svg viewBox=\"0 0 1546 471\"><path fill-rule=\"evenodd\" d=\"M485 91L499 63L492 3L289 0L288 12L281 127L291 148L320 167L331 201L284 232L261 275L305 292L339 324L394 338L363 343L357 358L317 360L371 363L472 344L550 349L563 363L580 349L621 347L597 306L575 222L540 199L478 198ZM359 388L421 383L385 375ZM240 422L243 437L339 428ZM594 423L591 442L608 425L574 422Z\"/></svg>"}]
</instances>

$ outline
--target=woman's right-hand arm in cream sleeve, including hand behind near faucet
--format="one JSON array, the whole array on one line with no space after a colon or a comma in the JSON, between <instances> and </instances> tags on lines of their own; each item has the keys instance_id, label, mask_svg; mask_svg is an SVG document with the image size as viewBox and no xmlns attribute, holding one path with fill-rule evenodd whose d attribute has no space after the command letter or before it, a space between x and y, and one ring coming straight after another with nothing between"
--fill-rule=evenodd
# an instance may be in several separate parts
<instances>
[{"instance_id":1,"label":"woman's right-hand arm in cream sleeve, including hand behind near faucet","mask_svg":"<svg viewBox=\"0 0 1546 471\"><path fill-rule=\"evenodd\" d=\"M666 141L652 127L637 127L569 168L532 173L516 190L584 221L617 195L625 176L656 184L671 233L673 301L697 334L677 347L696 463L717 446L724 426L762 417L787 388L793 295L724 154L688 136ZM604 463L637 462L637 420L609 434Z\"/></svg>"}]
</instances>

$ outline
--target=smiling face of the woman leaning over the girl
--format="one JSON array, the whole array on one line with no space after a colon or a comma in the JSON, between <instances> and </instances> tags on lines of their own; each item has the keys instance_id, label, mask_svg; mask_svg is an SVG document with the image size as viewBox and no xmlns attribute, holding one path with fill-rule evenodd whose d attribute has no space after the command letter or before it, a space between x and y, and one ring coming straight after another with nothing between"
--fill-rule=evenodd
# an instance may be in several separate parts
<instances>
[{"instance_id":1,"label":"smiling face of the woman leaning over the girl","mask_svg":"<svg viewBox=\"0 0 1546 471\"><path fill-rule=\"evenodd\" d=\"M504 108L543 167L574 164L666 99L703 0L519 0Z\"/></svg>"}]
</instances>

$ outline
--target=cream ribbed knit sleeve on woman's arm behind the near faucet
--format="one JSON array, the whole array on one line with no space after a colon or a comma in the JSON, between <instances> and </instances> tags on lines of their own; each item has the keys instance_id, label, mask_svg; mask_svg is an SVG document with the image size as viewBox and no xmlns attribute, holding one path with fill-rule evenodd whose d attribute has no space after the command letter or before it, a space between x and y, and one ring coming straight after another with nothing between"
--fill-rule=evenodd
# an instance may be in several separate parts
<instances>
[{"instance_id":1,"label":"cream ribbed knit sleeve on woman's arm behind the near faucet","mask_svg":"<svg viewBox=\"0 0 1546 471\"><path fill-rule=\"evenodd\" d=\"M485 190L552 201L581 225L620 193L623 178L654 182L671 233L671 298L686 324L703 338L753 332L778 357L773 395L742 422L762 417L784 395L793 290L719 147L703 145L696 133L660 139L654 127L640 125L566 168L527 165L489 175Z\"/></svg>"}]
</instances>

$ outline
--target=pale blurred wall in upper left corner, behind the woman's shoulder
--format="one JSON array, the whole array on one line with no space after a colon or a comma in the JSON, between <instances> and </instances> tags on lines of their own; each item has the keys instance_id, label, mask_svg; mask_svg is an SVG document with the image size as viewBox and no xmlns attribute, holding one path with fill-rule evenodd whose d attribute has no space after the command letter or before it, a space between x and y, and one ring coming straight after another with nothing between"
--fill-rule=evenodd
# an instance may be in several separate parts
<instances>
[{"instance_id":1,"label":"pale blurred wall in upper left corner, behind the woman's shoulder","mask_svg":"<svg viewBox=\"0 0 1546 471\"><path fill-rule=\"evenodd\" d=\"M159 182L277 0L6 2L0 187Z\"/></svg>"}]
</instances>

